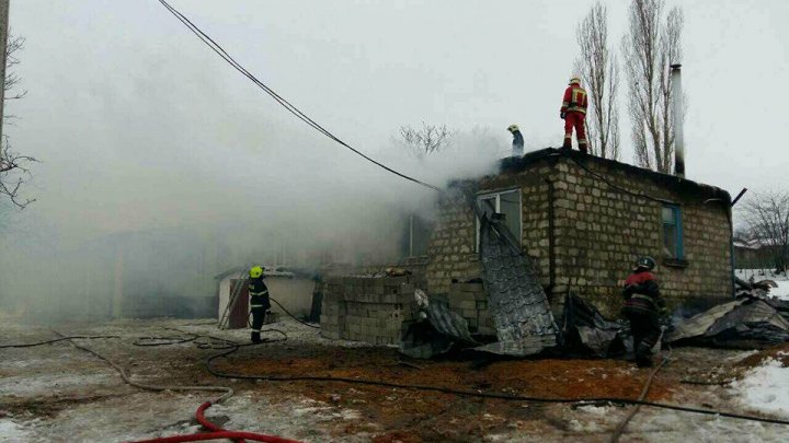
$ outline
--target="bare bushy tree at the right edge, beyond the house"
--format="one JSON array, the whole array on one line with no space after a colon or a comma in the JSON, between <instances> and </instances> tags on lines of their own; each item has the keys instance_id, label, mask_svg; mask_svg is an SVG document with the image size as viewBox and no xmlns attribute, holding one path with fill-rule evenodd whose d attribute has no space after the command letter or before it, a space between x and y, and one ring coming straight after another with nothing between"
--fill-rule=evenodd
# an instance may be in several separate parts
<instances>
[{"instance_id":1,"label":"bare bushy tree at the right edge, beyond the house","mask_svg":"<svg viewBox=\"0 0 789 443\"><path fill-rule=\"evenodd\" d=\"M789 267L789 191L755 193L740 210L751 235L767 248L776 269Z\"/></svg>"}]
</instances>

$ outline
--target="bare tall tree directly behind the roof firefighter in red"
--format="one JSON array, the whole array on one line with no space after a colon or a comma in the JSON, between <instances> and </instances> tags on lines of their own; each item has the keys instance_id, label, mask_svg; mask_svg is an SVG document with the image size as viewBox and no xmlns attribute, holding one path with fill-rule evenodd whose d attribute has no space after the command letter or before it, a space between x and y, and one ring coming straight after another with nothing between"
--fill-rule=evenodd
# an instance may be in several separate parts
<instances>
[{"instance_id":1,"label":"bare tall tree directly behind the roof firefighter in red","mask_svg":"<svg viewBox=\"0 0 789 443\"><path fill-rule=\"evenodd\" d=\"M608 50L608 10L597 2L575 30L581 56L575 72L590 93L586 131L592 153L605 159L619 158L619 65Z\"/></svg>"}]
</instances>

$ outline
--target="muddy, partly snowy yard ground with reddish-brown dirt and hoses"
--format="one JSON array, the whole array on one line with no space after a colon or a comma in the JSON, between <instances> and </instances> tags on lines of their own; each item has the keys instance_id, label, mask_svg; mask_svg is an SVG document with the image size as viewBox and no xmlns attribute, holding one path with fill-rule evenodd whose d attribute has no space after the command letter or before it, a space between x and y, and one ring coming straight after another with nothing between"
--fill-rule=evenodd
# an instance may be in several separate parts
<instances>
[{"instance_id":1,"label":"muddy, partly snowy yard ground with reddish-brown dirt and hoses","mask_svg":"<svg viewBox=\"0 0 789 443\"><path fill-rule=\"evenodd\" d=\"M396 349L325 340L284 320L272 325L288 340L244 347L215 361L244 375L320 375L531 397L637 398L649 375L617 360L404 360ZM210 320L123 320L59 325L62 334L117 335L79 340L149 384L230 386L236 395L209 409L227 429L306 442L572 441L605 442L629 412L618 406L573 406L464 397L336 382L218 378L205 368L218 350L205 339L139 347L140 337L188 337L165 329L245 342L247 331L219 331ZM0 323L0 343L55 338L48 327ZM277 336L272 334L272 338ZM147 341L150 342L150 341ZM748 412L725 382L739 376L753 352L679 348L656 376L649 399ZM743 362L744 361L744 362ZM720 383L720 384L716 384ZM141 390L69 342L0 349L0 440L122 442L199 430L194 411L215 394ZM780 425L643 408L621 441L782 441Z\"/></svg>"}]
</instances>

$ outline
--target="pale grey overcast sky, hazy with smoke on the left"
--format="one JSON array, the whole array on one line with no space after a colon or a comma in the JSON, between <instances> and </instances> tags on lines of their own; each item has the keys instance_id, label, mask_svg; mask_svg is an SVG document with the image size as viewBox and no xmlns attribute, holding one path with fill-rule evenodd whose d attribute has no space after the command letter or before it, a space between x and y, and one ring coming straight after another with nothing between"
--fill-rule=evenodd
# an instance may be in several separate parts
<instances>
[{"instance_id":1,"label":"pale grey overcast sky, hazy with smoke on the left","mask_svg":"<svg viewBox=\"0 0 789 443\"><path fill-rule=\"evenodd\" d=\"M21 119L5 131L43 161L23 218L83 237L422 196L285 114L156 0L11 3L30 94L10 107ZM172 4L341 138L438 179L395 151L398 126L489 127L504 152L517 123L527 149L561 143L558 109L590 2ZM618 50L628 1L606 4ZM789 2L683 7L688 178L732 195L789 187ZM473 155L487 165L492 154L455 161Z\"/></svg>"}]
</instances>

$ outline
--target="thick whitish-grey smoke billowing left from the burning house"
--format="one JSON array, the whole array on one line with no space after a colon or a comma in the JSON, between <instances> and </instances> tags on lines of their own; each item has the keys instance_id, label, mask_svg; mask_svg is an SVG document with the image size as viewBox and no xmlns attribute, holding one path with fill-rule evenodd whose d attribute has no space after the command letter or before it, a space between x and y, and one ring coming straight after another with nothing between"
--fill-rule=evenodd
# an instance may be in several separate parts
<instances>
[{"instance_id":1,"label":"thick whitish-grey smoke billowing left from the burning house","mask_svg":"<svg viewBox=\"0 0 789 443\"><path fill-rule=\"evenodd\" d=\"M75 78L67 100L21 105L31 117L11 137L46 148L28 189L38 201L3 208L0 310L106 318L119 292L210 298L214 276L252 263L390 264L403 257L405 218L434 215L435 190L192 62L197 78L179 82L149 54L127 82ZM78 127L55 118L71 109L84 110ZM418 160L387 136L358 148L437 186L491 173L508 151L477 128Z\"/></svg>"}]
</instances>

